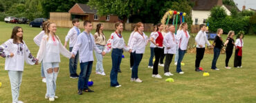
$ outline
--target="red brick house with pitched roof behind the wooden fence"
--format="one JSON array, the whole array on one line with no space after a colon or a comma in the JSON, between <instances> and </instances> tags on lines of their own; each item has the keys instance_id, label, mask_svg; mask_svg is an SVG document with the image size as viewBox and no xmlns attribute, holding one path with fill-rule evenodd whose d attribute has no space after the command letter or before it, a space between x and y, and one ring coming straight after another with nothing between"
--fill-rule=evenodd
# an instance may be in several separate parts
<instances>
[{"instance_id":1,"label":"red brick house with pitched roof behind the wooden fence","mask_svg":"<svg viewBox=\"0 0 256 103\"><path fill-rule=\"evenodd\" d=\"M109 14L106 16L100 16L97 14L97 10L91 8L89 5L75 3L73 7L68 11L71 14L71 19L77 18L84 20L89 20L92 22L106 22L106 23L115 23L118 21L118 16Z\"/></svg>"}]
</instances>

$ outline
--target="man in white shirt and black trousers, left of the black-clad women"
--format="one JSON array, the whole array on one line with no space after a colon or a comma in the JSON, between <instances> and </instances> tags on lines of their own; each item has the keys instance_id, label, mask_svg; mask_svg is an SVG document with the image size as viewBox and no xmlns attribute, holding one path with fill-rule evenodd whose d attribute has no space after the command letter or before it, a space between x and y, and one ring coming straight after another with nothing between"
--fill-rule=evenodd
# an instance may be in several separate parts
<instances>
[{"instance_id":1,"label":"man in white shirt and black trousers, left of the black-clad women","mask_svg":"<svg viewBox=\"0 0 256 103\"><path fill-rule=\"evenodd\" d=\"M195 62L195 71L201 71L201 69L199 69L200 66L200 62L203 59L203 55L205 52L205 43L208 45L208 47L212 47L212 45L210 45L208 38L206 36L206 26L204 24L200 25L200 31L198 32L198 34L196 35L195 41L196 41L196 62Z\"/></svg>"}]
</instances>

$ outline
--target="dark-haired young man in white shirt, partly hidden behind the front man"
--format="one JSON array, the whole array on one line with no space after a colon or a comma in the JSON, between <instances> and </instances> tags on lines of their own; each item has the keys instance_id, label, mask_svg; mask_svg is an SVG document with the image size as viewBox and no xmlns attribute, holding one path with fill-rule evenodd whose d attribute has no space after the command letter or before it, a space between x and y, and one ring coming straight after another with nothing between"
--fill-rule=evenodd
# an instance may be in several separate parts
<instances>
[{"instance_id":1,"label":"dark-haired young man in white shirt, partly hidden behind the front man","mask_svg":"<svg viewBox=\"0 0 256 103\"><path fill-rule=\"evenodd\" d=\"M69 51L72 52L72 49L75 45L75 42L77 41L77 36L80 34L79 30L79 20L78 19L73 19L72 24L74 25L69 31L68 34L66 35L65 38L65 44L64 47L66 47L66 43L69 40ZM70 73L70 78L78 78L79 76L76 73L77 70L77 61L78 61L78 53L75 56L75 58L70 58L69 59L69 73Z\"/></svg>"}]
</instances>

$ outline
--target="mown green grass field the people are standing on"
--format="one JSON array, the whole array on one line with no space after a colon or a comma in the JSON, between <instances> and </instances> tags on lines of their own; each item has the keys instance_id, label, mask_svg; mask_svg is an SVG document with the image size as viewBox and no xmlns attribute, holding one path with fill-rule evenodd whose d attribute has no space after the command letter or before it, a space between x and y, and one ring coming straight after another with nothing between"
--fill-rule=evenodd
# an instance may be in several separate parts
<instances>
[{"instance_id":1,"label":"mown green grass field the people are standing on","mask_svg":"<svg viewBox=\"0 0 256 103\"><path fill-rule=\"evenodd\" d=\"M0 44L10 38L12 27L17 24L0 22ZM36 56L39 47L33 42L33 38L41 31L38 27L29 27L28 25L19 25L24 30L24 41L28 45L30 52ZM62 43L68 32L68 28L57 28L57 35L60 36ZM93 34L94 34L93 30ZM113 31L104 31L109 37ZM128 41L130 32L123 32L125 41ZM146 32L149 36L149 32ZM226 38L226 35L223 35ZM194 71L195 54L185 54L182 67L185 74L175 73L176 66L172 62L170 71L174 73L175 82L165 82L166 76L163 76L163 67L159 67L159 73L163 79L152 78L152 69L148 69L148 60L150 56L149 45L143 55L143 60L138 68L138 76L142 83L129 82L131 70L129 69L129 54L124 53L118 73L118 82L122 84L120 88L110 87L109 73L111 71L111 54L104 56L104 71L107 76L95 75L95 62L93 62L93 71L91 79L94 84L91 87L94 93L83 93L77 95L77 79L69 78L68 58L61 56L60 73L57 78L56 95L59 99L55 102L256 102L256 36L245 36L242 69L225 69L225 54L219 56L217 67L220 71L210 70L213 54L205 54L201 61L201 67L210 73L210 76L203 77L202 72ZM230 58L230 67L233 65L234 53ZM8 71L4 70L5 58L0 58L0 102L12 102L10 89L10 80ZM46 84L42 82L39 65L25 65L23 81L21 84L19 100L27 103L48 102L44 99L46 93ZM80 66L77 73L80 72Z\"/></svg>"}]
</instances>

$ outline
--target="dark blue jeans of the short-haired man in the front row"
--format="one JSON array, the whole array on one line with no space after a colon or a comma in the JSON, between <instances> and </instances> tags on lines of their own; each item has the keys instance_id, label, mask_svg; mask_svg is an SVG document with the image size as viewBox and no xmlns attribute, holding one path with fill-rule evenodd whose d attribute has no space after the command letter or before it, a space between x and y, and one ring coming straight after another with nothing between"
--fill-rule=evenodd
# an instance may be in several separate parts
<instances>
[{"instance_id":1,"label":"dark blue jeans of the short-haired man in the front row","mask_svg":"<svg viewBox=\"0 0 256 103\"><path fill-rule=\"evenodd\" d=\"M91 75L91 69L93 68L93 61L80 63L80 75L78 78L78 89L88 89L88 81Z\"/></svg>"}]
</instances>

